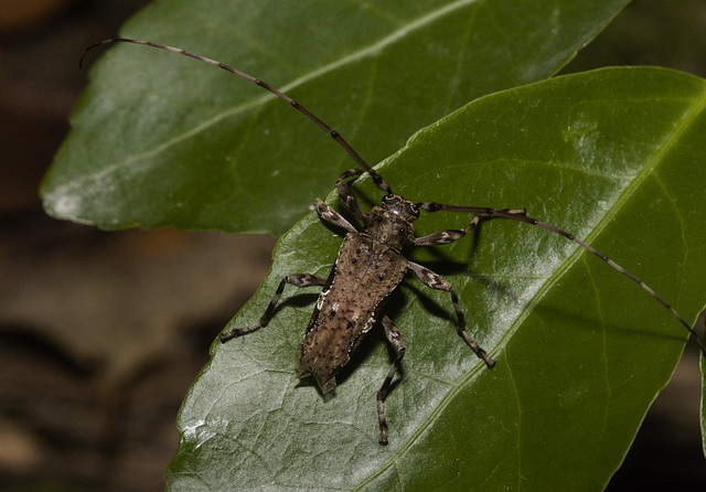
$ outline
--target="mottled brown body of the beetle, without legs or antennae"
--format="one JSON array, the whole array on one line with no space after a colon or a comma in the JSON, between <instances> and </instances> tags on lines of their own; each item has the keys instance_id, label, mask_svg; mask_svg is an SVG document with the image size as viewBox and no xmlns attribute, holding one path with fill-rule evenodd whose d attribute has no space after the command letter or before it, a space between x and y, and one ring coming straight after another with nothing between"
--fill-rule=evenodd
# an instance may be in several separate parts
<instances>
[{"instance_id":1,"label":"mottled brown body of the beetle, without legs or antennae","mask_svg":"<svg viewBox=\"0 0 706 492\"><path fill-rule=\"evenodd\" d=\"M407 272L400 249L414 242L411 221L418 213L405 213L404 205L399 213L393 210L376 206L362 233L345 236L309 321L298 376L313 376L323 393L335 387L335 374L375 324L381 302Z\"/></svg>"}]
</instances>

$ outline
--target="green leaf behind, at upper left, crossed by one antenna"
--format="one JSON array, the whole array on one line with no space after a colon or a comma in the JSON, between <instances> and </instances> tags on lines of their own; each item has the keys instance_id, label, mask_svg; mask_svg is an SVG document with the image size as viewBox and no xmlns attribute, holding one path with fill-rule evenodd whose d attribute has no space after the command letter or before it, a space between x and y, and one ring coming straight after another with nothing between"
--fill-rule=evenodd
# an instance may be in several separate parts
<instances>
[{"instance_id":1,"label":"green leaf behind, at upper left, crossed by one antenna","mask_svg":"<svg viewBox=\"0 0 706 492\"><path fill-rule=\"evenodd\" d=\"M121 35L286 89L375 163L469 100L554 74L627 3L172 0ZM286 104L184 56L115 46L90 78L42 186L57 217L279 235L353 165Z\"/></svg>"}]
</instances>

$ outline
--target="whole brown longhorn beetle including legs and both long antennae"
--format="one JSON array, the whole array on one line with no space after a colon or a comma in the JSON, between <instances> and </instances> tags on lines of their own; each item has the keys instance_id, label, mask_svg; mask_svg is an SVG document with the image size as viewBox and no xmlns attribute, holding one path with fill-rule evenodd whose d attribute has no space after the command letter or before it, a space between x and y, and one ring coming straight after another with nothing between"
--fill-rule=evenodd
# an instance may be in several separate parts
<instances>
[{"instance_id":1,"label":"whole brown longhorn beetle including legs and both long antennae","mask_svg":"<svg viewBox=\"0 0 706 492\"><path fill-rule=\"evenodd\" d=\"M411 270L427 287L449 292L457 315L457 330L459 335L489 368L495 365L493 359L490 357L486 351L483 350L467 331L466 315L452 285L438 274L408 260L403 255L406 247L437 246L453 243L473 231L482 217L514 220L542 227L565 237L597 256L611 268L638 284L640 288L665 307L694 336L702 353L706 356L706 349L704 347L700 336L670 303L655 293L637 276L625 270L608 256L596 250L592 246L578 239L573 234L527 216L524 208L498 210L407 200L394 193L385 179L367 164L338 131L329 127L299 103L267 83L215 60L150 41L127 38L104 40L88 46L84 52L84 56L85 53L92 49L111 43L140 44L178 53L223 68L226 72L256 84L292 106L306 118L328 132L356 162L357 168L343 172L336 179L335 188L343 206L363 224L362 231L359 232L343 215L334 211L323 201L319 199L314 201L315 210L322 221L346 232L329 277L324 279L310 274L295 274L284 277L265 313L257 322L248 327L237 328L222 333L220 340L222 343L226 343L267 325L272 319L275 308L287 285L295 287L322 287L322 291L317 300L315 308L303 335L297 377L313 377L321 392L325 394L336 386L336 373L349 363L351 354L360 345L365 333L372 329L376 321L381 321L387 340L397 353L376 397L381 445L387 445L388 442L388 425L385 418L384 403L391 383L405 355L405 343L402 333L395 323L384 314L382 308L385 298L402 282L408 270ZM363 173L367 173L373 180L373 183L385 192L381 204L373 207L368 213L363 212L355 194L347 183L350 179L359 178ZM439 211L471 213L472 218L463 229L446 229L417 237L415 235L414 222L419 217L420 211L429 213Z\"/></svg>"}]
</instances>

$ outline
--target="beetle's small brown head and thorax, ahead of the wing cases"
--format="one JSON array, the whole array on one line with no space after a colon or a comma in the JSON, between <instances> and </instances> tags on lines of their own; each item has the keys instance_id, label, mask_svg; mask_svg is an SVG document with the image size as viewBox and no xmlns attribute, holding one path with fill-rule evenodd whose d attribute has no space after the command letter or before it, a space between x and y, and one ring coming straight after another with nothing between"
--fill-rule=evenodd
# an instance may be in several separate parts
<instances>
[{"instance_id":1,"label":"beetle's small brown head and thorax, ahead of the wing cases","mask_svg":"<svg viewBox=\"0 0 706 492\"><path fill-rule=\"evenodd\" d=\"M414 202L391 193L379 206L373 207L368 217L363 235L397 252L414 243L415 227L411 223L419 217Z\"/></svg>"}]
</instances>

